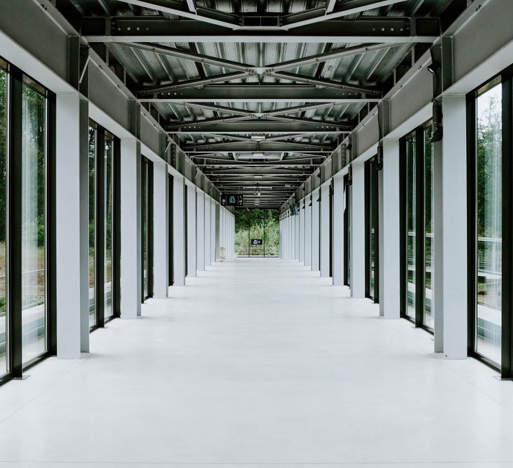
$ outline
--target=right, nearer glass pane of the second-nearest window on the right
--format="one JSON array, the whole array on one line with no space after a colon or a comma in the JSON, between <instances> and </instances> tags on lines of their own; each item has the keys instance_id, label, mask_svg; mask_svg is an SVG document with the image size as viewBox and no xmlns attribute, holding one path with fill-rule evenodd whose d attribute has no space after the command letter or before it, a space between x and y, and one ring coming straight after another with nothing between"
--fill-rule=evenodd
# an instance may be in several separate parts
<instances>
[{"instance_id":1,"label":"right, nearer glass pane of the second-nearest window on the right","mask_svg":"<svg viewBox=\"0 0 513 468\"><path fill-rule=\"evenodd\" d=\"M432 284L433 284L433 225L434 203L433 198L433 151L431 140L432 126L424 129L424 215L426 219L426 233L424 236L424 286L426 297L424 298L424 325L435 328L435 320L432 309Z\"/></svg>"}]
</instances>

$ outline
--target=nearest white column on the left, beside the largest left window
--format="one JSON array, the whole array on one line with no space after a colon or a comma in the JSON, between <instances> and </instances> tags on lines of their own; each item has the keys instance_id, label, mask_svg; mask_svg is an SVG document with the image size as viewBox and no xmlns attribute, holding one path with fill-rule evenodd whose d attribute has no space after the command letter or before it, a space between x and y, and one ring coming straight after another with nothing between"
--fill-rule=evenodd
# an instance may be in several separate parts
<instances>
[{"instance_id":1,"label":"nearest white column on the left, beside the largest left window","mask_svg":"<svg viewBox=\"0 0 513 468\"><path fill-rule=\"evenodd\" d=\"M80 229L87 211L83 212L80 195L87 173L81 167L80 107L78 94L56 96L57 357L63 359L80 358L81 283L87 281L81 258Z\"/></svg>"}]
</instances>

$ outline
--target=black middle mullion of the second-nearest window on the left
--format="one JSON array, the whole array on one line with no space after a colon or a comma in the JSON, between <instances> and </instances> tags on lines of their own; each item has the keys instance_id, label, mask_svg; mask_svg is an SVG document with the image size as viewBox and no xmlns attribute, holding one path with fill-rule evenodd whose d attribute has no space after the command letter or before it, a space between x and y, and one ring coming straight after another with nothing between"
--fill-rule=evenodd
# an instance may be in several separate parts
<instances>
[{"instance_id":1,"label":"black middle mullion of the second-nearest window on the left","mask_svg":"<svg viewBox=\"0 0 513 468\"><path fill-rule=\"evenodd\" d=\"M98 327L105 326L105 130L96 128L95 304Z\"/></svg>"}]
</instances>

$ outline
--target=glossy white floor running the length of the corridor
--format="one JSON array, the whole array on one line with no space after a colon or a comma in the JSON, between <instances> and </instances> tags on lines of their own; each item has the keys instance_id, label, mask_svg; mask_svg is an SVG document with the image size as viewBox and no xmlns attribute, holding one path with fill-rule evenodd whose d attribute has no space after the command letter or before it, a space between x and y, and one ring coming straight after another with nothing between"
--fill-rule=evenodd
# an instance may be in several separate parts
<instances>
[{"instance_id":1,"label":"glossy white floor running the length of the corridor","mask_svg":"<svg viewBox=\"0 0 513 468\"><path fill-rule=\"evenodd\" d=\"M0 467L513 467L513 384L278 259L218 264L0 388Z\"/></svg>"}]
</instances>

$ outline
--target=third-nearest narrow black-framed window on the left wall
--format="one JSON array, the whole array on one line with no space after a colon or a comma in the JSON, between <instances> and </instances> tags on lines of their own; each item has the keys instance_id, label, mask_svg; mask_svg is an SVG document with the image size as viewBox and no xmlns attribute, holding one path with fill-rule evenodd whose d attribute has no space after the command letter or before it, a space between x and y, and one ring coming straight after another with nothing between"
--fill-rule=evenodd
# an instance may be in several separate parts
<instances>
[{"instance_id":1,"label":"third-nearest narrow black-framed window on the left wall","mask_svg":"<svg viewBox=\"0 0 513 468\"><path fill-rule=\"evenodd\" d=\"M143 157L141 167L142 297L153 295L153 162Z\"/></svg>"}]
</instances>

